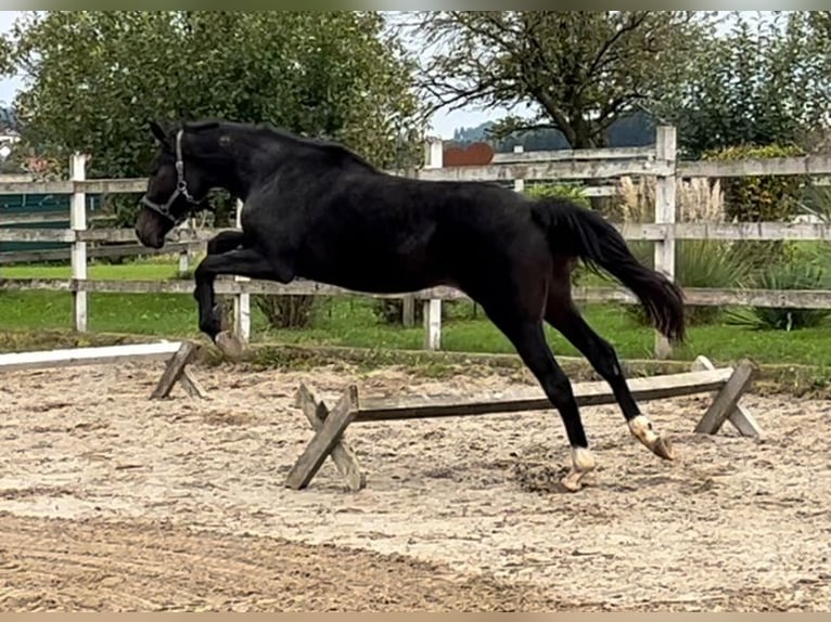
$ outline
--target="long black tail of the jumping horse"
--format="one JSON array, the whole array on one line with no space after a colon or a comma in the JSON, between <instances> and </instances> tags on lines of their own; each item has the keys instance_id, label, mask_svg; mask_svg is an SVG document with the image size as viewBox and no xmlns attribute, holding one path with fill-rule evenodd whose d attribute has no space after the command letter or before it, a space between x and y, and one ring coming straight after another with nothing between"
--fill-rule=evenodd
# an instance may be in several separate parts
<instances>
[{"instance_id":1,"label":"long black tail of the jumping horse","mask_svg":"<svg viewBox=\"0 0 831 622\"><path fill-rule=\"evenodd\" d=\"M685 338L683 293L662 273L640 263L621 233L598 212L565 199L532 203L532 215L548 233L551 252L579 257L601 268L630 289L655 327L670 341Z\"/></svg>"}]
</instances>

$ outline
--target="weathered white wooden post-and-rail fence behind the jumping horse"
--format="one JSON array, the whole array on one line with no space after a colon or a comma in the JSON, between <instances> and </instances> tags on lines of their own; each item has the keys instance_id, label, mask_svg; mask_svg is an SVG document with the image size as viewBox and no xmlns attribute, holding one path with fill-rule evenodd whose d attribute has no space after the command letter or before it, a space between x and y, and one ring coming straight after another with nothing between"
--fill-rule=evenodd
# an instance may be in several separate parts
<instances>
[{"instance_id":1,"label":"weathered white wooden post-and-rail fence behind the jumping horse","mask_svg":"<svg viewBox=\"0 0 831 622\"><path fill-rule=\"evenodd\" d=\"M512 183L522 191L526 181L540 180L615 180L624 176L652 177L655 185L654 222L624 224L619 229L627 241L650 241L655 245L655 268L669 276L675 275L675 244L678 239L723 241L826 241L831 239L831 225L827 223L789 222L676 222L676 184L682 179L727 178L744 176L828 176L831 174L831 155L804 157L753 158L734 161L679 161L676 159L676 131L660 127L655 144L651 147L580 150L555 152L516 152L498 154L487 166L442 166L443 144L438 139L427 141L425 164L414 172L425 180L488 180ZM0 289L47 289L71 291L74 300L74 327L87 331L87 293L192 293L190 281L100 281L87 277L87 260L92 255L87 248L91 243L123 243L136 250L136 236L131 229L88 229L85 200L87 194L141 193L146 187L144 179L88 180L85 158L74 156L71 179L43 182L2 182L0 194L68 194L71 200L69 228L56 229L2 229L0 242L64 242L72 245L72 277L68 280L17 280L2 278ZM596 194L609 194L612 186L600 186ZM239 209L238 225L239 225ZM2 224L2 222L0 222ZM168 249L186 252L204 247L217 230L177 229L168 235ZM144 249L144 254L152 254ZM216 284L217 293L234 297L234 324L243 339L251 337L251 301L253 294L290 294L337 296L355 294L338 287L297 281L289 285L250 281L241 277L221 277ZM765 290L765 289L712 289L687 288L687 300L692 306L756 306L791 308L831 308L831 290ZM401 295L376 298L401 298ZM636 303L631 294L615 287L577 287L574 297L580 302L616 301ZM424 347L437 350L442 347L442 302L466 297L449 287L436 287L405 297L410 303L424 304ZM668 354L668 345L656 337L657 357Z\"/></svg>"}]
</instances>

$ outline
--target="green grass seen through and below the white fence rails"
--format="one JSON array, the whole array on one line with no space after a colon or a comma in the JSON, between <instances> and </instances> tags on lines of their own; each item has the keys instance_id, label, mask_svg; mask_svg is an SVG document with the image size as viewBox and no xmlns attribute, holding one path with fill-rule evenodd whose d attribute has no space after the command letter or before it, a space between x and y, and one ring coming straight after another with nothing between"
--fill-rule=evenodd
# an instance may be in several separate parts
<instances>
[{"instance_id":1,"label":"green grass seen through and below the white fence rails","mask_svg":"<svg viewBox=\"0 0 831 622\"><path fill-rule=\"evenodd\" d=\"M92 264L91 278L159 280L176 275L176 263L158 260L123 265ZM68 267L12 267L0 273L10 278L66 278ZM272 331L252 306L255 341L295 345L420 349L423 328L380 324L369 298L338 297L320 301L314 326L308 329ZM614 304L584 309L588 322L624 359L650 359L654 332L637 325ZM72 295L57 291L0 291L0 327L7 331L69 329ZM165 337L199 336L196 303L190 295L90 294L89 329ZM578 355L559 333L548 328L555 353ZM512 353L508 340L487 320L448 320L443 326L443 347L450 351ZM739 326L692 326L688 342L674 358L691 360L706 353L714 360L751 357L759 363L794 363L831 366L831 325L800 331L752 331Z\"/></svg>"}]
</instances>

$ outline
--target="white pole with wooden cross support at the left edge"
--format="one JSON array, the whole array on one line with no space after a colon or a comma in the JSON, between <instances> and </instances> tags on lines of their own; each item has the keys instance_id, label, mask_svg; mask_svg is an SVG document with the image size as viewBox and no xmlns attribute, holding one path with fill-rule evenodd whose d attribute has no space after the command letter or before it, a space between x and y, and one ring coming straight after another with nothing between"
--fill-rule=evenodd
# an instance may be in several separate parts
<instances>
[{"instance_id":1,"label":"white pole with wooden cross support at the left edge","mask_svg":"<svg viewBox=\"0 0 831 622\"><path fill-rule=\"evenodd\" d=\"M0 354L0 372L74 367L137 360L165 360L167 365L155 389L150 394L151 400L168 397L176 383L179 383L191 398L204 398L205 392L186 368L195 351L196 346L191 341L162 341L159 344L135 344L101 348L13 352Z\"/></svg>"}]
</instances>

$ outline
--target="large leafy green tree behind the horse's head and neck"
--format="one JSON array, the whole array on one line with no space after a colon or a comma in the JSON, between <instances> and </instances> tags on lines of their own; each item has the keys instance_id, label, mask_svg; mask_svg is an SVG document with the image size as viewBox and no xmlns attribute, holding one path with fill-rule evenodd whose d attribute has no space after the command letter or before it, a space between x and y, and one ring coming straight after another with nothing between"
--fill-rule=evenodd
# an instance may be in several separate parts
<instances>
[{"instance_id":1,"label":"large leafy green tree behind the horse's head and neck","mask_svg":"<svg viewBox=\"0 0 831 622\"><path fill-rule=\"evenodd\" d=\"M378 12L28 12L0 44L24 139L90 174L146 173L146 121L270 121L379 166L419 148L414 63Z\"/></svg>"}]
</instances>

